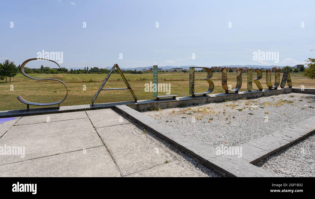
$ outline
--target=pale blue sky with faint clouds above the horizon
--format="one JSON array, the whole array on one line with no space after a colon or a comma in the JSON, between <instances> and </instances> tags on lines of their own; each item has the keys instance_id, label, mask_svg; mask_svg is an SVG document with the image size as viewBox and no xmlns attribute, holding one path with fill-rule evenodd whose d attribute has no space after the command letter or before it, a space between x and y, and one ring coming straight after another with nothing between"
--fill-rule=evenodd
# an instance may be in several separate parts
<instances>
[{"instance_id":1,"label":"pale blue sky with faint clouds above the horizon","mask_svg":"<svg viewBox=\"0 0 315 199\"><path fill-rule=\"evenodd\" d=\"M66 68L292 66L315 57L315 1L71 1L1 0L0 62L42 50L63 52ZM279 62L253 60L258 50L278 52Z\"/></svg>"}]
</instances>

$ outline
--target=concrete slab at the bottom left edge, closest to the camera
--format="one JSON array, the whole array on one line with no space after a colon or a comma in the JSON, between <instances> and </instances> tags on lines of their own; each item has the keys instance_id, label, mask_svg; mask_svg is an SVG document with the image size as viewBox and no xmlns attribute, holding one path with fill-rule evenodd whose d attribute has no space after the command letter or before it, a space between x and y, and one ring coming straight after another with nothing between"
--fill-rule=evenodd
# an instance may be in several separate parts
<instances>
[{"instance_id":1,"label":"concrete slab at the bottom left edge, closest to the camera","mask_svg":"<svg viewBox=\"0 0 315 199\"><path fill-rule=\"evenodd\" d=\"M105 146L0 166L0 177L120 177Z\"/></svg>"}]
</instances>

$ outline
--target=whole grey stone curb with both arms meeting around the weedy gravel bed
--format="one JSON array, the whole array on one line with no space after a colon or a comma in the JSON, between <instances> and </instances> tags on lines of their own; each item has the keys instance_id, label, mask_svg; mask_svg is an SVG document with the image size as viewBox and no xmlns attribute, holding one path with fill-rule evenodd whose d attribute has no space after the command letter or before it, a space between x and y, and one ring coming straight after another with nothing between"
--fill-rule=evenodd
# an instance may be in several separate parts
<instances>
[{"instance_id":1,"label":"whole grey stone curb with both arms meeting around the weedy gravel bed","mask_svg":"<svg viewBox=\"0 0 315 199\"><path fill-rule=\"evenodd\" d=\"M315 124L312 123L314 116L297 125L241 145L242 157L217 155L217 149L214 147L184 135L126 105L117 105L115 109L223 177L277 177L254 164L315 132Z\"/></svg>"}]
</instances>

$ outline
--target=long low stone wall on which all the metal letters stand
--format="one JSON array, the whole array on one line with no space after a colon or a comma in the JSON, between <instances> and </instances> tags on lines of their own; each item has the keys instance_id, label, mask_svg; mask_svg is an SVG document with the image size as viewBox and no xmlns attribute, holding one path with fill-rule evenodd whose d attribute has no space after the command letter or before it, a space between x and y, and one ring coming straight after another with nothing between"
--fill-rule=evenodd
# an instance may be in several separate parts
<instances>
[{"instance_id":1,"label":"long low stone wall on which all the metal letters stand","mask_svg":"<svg viewBox=\"0 0 315 199\"><path fill-rule=\"evenodd\" d=\"M301 90L301 89L300 89ZM47 108L32 108L28 112L26 109L19 110L9 110L9 111L0 111L0 118L3 117L17 117L17 116L31 116L31 115L40 115L40 114L48 114L48 113L63 113L63 112L73 112L73 111L88 111L95 109L103 109L103 108L114 108L116 105L129 105L133 109L137 111L147 111L148 108L159 107L161 109L165 108L175 108L175 107L183 107L187 105L198 105L212 102L223 102L226 100L238 100L242 98L258 98L263 96L284 94L284 93L292 93L292 88L278 88L277 90L268 90L265 89L263 91L255 90L252 92L243 91L231 94L209 94L206 96L199 95L195 98L187 96L187 97L178 97L174 99L160 99L160 100L139 100L137 103L134 101L124 101L124 102L113 102L113 103L104 103L104 104L94 104L94 106L90 104L86 105L73 105L73 106L60 106L58 107L47 107Z\"/></svg>"}]
</instances>

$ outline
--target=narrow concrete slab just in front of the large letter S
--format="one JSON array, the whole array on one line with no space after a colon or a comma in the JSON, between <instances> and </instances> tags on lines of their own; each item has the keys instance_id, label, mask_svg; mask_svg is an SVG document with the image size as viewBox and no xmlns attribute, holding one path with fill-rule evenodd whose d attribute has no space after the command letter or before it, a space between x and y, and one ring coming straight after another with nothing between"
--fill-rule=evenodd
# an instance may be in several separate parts
<instances>
[{"instance_id":1,"label":"narrow concrete slab just in front of the large letter S","mask_svg":"<svg viewBox=\"0 0 315 199\"><path fill-rule=\"evenodd\" d=\"M63 120L82 119L82 118L87 118L87 117L88 116L86 115L84 111L35 115L35 116L22 117L18 122L16 122L15 125L36 124L36 123L43 123L43 122L56 122L56 121L63 121Z\"/></svg>"}]
</instances>

